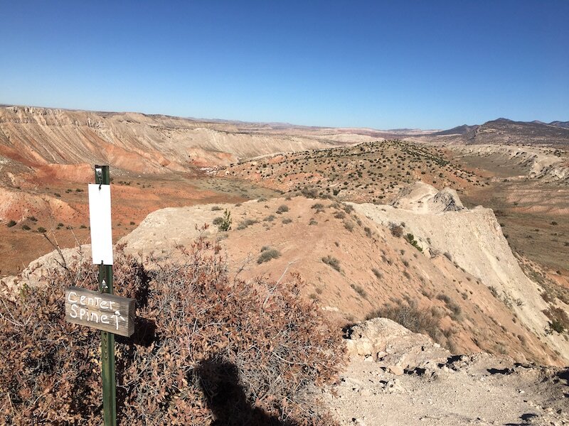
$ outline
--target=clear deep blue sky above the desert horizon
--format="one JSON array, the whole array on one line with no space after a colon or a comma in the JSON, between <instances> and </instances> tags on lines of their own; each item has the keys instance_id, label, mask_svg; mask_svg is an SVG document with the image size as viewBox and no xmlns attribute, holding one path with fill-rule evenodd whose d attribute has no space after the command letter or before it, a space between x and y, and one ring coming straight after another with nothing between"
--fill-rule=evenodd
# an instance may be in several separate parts
<instances>
[{"instance_id":1,"label":"clear deep blue sky above the desert horizon","mask_svg":"<svg viewBox=\"0 0 569 426\"><path fill-rule=\"evenodd\" d=\"M569 120L569 1L2 1L0 103L311 126Z\"/></svg>"}]
</instances>

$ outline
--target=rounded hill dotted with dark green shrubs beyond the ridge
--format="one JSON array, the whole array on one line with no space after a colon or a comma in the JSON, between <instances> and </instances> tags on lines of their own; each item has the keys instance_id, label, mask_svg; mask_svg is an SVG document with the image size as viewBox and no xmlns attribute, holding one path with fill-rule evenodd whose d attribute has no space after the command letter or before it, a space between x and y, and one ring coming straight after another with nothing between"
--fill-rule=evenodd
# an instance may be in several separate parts
<instances>
[{"instance_id":1,"label":"rounded hill dotted with dark green shrubs beyond the ridge","mask_svg":"<svg viewBox=\"0 0 569 426\"><path fill-rule=\"evenodd\" d=\"M419 179L440 186L474 182L474 174L450 163L439 148L408 141L276 154L229 165L220 173L307 198L375 203Z\"/></svg>"}]
</instances>

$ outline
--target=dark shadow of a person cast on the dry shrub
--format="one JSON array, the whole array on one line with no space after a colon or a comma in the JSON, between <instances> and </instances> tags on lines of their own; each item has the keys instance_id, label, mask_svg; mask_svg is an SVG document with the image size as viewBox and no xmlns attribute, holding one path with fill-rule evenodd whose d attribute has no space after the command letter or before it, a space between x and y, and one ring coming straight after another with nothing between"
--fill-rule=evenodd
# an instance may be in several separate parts
<instances>
[{"instance_id":1,"label":"dark shadow of a person cast on the dry shrub","mask_svg":"<svg viewBox=\"0 0 569 426\"><path fill-rule=\"evenodd\" d=\"M238 368L216 358L201 362L195 373L206 397L208 408L216 419L214 426L294 426L281 422L247 400L239 383Z\"/></svg>"}]
</instances>

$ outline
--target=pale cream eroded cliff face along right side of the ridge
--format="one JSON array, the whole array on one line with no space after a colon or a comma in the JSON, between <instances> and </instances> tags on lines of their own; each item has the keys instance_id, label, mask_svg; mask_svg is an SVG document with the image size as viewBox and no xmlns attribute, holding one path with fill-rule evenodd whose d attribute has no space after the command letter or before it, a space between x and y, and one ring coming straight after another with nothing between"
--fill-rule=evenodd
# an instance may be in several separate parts
<instances>
[{"instance_id":1,"label":"pale cream eroded cliff face along right side of the ridge","mask_svg":"<svg viewBox=\"0 0 569 426\"><path fill-rule=\"evenodd\" d=\"M541 297L543 288L523 273L491 209L465 209L456 192L447 188L437 191L422 182L403 190L389 206L351 205L383 226L402 226L403 234L412 234L416 244L431 256L444 253L490 288L522 324L569 361L569 342L548 332L549 318L543 311L550 305ZM560 300L556 303L567 310Z\"/></svg>"}]
</instances>

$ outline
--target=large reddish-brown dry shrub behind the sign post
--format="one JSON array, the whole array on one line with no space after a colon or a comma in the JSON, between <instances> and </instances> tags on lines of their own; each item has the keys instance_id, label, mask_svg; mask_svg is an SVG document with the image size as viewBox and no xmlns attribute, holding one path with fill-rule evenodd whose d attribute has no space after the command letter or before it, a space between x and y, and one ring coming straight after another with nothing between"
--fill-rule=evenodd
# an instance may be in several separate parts
<instances>
[{"instance_id":1,"label":"large reddish-brown dry shrub behind the sign post","mask_svg":"<svg viewBox=\"0 0 569 426\"><path fill-rule=\"evenodd\" d=\"M344 352L299 277L231 280L218 246L181 250L183 264L153 271L115 256L115 293L137 299L135 334L117 336L119 424L334 424L307 389ZM85 260L0 298L0 423L101 424L100 332L64 320L65 286L94 290L96 278Z\"/></svg>"}]
</instances>

